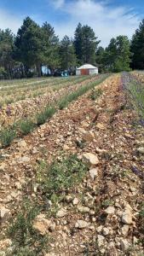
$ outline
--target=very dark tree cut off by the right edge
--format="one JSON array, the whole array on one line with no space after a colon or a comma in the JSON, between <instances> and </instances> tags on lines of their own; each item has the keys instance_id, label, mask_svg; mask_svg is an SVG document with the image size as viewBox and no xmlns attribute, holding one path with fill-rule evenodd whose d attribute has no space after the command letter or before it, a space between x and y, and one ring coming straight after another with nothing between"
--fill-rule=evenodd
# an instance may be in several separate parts
<instances>
[{"instance_id":1,"label":"very dark tree cut off by the right edge","mask_svg":"<svg viewBox=\"0 0 144 256\"><path fill-rule=\"evenodd\" d=\"M132 67L134 69L144 69L144 20L136 29L131 41Z\"/></svg>"}]
</instances>

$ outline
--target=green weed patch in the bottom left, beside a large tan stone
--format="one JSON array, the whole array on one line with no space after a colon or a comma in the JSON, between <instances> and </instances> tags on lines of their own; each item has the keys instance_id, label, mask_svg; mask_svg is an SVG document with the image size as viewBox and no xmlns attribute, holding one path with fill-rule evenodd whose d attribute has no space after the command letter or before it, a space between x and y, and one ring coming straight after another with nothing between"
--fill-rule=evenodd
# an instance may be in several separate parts
<instances>
[{"instance_id":1,"label":"green weed patch in the bottom left, beside a large tan stone","mask_svg":"<svg viewBox=\"0 0 144 256\"><path fill-rule=\"evenodd\" d=\"M37 233L32 227L32 221L39 211L39 207L33 207L29 201L25 201L21 212L10 225L8 236L13 241L13 255L43 255L43 250L47 249L48 237Z\"/></svg>"}]
</instances>

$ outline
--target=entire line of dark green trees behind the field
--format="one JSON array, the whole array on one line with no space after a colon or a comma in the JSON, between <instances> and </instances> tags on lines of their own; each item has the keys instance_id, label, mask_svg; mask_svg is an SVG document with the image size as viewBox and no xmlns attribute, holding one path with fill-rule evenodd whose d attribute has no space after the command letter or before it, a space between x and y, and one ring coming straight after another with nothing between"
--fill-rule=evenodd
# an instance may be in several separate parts
<instances>
[{"instance_id":1,"label":"entire line of dark green trees behind the field","mask_svg":"<svg viewBox=\"0 0 144 256\"><path fill-rule=\"evenodd\" d=\"M59 40L48 22L39 26L26 17L16 35L9 28L0 30L0 79L40 77L43 67L51 74L58 70L73 74L84 63L99 67L101 73L144 69L144 20L131 41L120 35L106 49L100 43L88 25L79 23L73 38Z\"/></svg>"}]
</instances>

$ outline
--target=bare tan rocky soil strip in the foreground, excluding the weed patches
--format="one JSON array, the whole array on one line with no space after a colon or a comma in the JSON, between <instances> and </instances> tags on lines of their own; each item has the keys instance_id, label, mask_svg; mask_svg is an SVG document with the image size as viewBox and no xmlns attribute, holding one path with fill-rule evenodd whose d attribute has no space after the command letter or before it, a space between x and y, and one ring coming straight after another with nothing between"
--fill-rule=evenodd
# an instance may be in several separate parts
<instances>
[{"instance_id":1,"label":"bare tan rocky soil strip in the foreground, excluding the weed patches","mask_svg":"<svg viewBox=\"0 0 144 256\"><path fill-rule=\"evenodd\" d=\"M144 128L135 125L136 113L126 102L120 75L112 75L95 90L100 88L102 95L95 101L89 91L31 135L1 149L3 255L11 247L5 230L23 196L33 201L40 196L37 162L50 164L61 154L77 154L89 171L60 202L55 216L48 217L45 211L35 218L33 227L52 238L49 253L43 255L144 255Z\"/></svg>"}]
</instances>

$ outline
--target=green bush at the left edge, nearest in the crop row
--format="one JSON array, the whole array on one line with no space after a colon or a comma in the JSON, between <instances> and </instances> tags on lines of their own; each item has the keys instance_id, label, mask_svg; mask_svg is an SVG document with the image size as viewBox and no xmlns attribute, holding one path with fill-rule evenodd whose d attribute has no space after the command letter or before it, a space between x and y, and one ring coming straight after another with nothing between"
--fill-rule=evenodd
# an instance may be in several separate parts
<instances>
[{"instance_id":1,"label":"green bush at the left edge, nearest in the crop row","mask_svg":"<svg viewBox=\"0 0 144 256\"><path fill-rule=\"evenodd\" d=\"M16 137L16 133L14 130L10 128L3 129L0 133L0 142L3 148L8 147L14 138Z\"/></svg>"}]
</instances>

